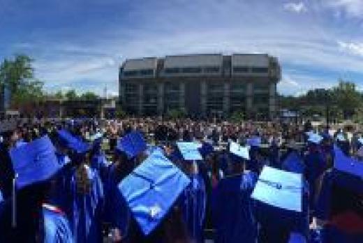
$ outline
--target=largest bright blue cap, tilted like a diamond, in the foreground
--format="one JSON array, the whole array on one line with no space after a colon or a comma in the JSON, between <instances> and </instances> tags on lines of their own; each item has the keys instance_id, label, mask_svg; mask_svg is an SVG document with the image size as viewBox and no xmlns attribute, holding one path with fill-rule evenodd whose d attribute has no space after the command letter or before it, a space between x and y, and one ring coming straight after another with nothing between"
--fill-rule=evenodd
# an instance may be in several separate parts
<instances>
[{"instance_id":1,"label":"largest bright blue cap, tilted like a diamond, in the foreground","mask_svg":"<svg viewBox=\"0 0 363 243\"><path fill-rule=\"evenodd\" d=\"M190 182L163 154L154 152L118 188L142 232L149 235Z\"/></svg>"}]
</instances>

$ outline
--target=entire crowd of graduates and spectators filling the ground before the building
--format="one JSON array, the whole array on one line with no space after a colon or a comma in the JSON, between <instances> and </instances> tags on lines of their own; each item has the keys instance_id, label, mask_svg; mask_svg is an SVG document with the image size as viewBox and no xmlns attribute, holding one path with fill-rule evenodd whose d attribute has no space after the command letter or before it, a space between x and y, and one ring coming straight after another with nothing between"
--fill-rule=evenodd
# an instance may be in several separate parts
<instances>
[{"instance_id":1,"label":"entire crowd of graduates and spectators filling the ground before the building","mask_svg":"<svg viewBox=\"0 0 363 243\"><path fill-rule=\"evenodd\" d=\"M218 119L0 131L0 242L363 242L360 131Z\"/></svg>"}]
</instances>

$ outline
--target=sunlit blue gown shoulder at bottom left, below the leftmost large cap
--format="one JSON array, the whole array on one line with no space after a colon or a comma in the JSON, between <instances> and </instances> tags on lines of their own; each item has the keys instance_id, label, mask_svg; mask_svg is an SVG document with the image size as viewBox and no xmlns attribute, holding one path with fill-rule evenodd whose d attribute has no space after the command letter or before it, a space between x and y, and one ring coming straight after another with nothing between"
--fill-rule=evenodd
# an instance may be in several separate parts
<instances>
[{"instance_id":1,"label":"sunlit blue gown shoulder at bottom left, below the leftmost large cap","mask_svg":"<svg viewBox=\"0 0 363 243\"><path fill-rule=\"evenodd\" d=\"M73 243L73 235L66 215L57 209L43 206L44 243Z\"/></svg>"}]
</instances>

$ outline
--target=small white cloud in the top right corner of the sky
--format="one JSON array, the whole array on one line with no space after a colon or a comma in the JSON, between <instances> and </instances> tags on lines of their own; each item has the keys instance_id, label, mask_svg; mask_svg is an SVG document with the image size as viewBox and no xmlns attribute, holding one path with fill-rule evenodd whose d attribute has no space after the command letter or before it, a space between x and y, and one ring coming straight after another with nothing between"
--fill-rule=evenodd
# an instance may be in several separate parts
<instances>
[{"instance_id":1,"label":"small white cloud in the top right corner of the sky","mask_svg":"<svg viewBox=\"0 0 363 243\"><path fill-rule=\"evenodd\" d=\"M363 17L362 0L323 0L323 3L329 8L347 13L351 17Z\"/></svg>"}]
</instances>

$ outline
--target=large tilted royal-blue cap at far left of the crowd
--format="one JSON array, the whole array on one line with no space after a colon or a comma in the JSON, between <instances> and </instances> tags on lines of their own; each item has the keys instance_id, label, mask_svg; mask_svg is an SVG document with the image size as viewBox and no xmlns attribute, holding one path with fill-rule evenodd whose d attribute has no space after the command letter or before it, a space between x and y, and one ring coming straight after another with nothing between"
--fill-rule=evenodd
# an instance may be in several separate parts
<instances>
[{"instance_id":1,"label":"large tilted royal-blue cap at far left of the crowd","mask_svg":"<svg viewBox=\"0 0 363 243\"><path fill-rule=\"evenodd\" d=\"M47 135L10 149L10 158L17 175L17 189L50 179L61 169L55 148Z\"/></svg>"}]
</instances>

